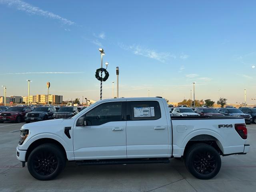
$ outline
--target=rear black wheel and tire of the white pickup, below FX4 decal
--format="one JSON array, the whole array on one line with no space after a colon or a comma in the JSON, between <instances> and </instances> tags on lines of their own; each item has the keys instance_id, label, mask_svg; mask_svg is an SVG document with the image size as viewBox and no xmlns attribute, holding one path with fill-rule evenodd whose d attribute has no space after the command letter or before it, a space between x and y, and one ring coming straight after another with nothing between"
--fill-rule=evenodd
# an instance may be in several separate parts
<instances>
[{"instance_id":1,"label":"rear black wheel and tire of the white pickup, below FX4 decal","mask_svg":"<svg viewBox=\"0 0 256 192\"><path fill-rule=\"evenodd\" d=\"M188 171L198 179L211 179L218 174L221 159L218 151L204 143L192 145L185 154Z\"/></svg>"}]
</instances>

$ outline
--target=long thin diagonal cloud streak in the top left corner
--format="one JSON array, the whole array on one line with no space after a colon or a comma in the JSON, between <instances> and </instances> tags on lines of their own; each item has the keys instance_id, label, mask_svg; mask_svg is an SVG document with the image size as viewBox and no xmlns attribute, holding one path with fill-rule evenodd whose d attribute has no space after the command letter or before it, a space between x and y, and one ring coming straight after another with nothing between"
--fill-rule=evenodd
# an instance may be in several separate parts
<instances>
[{"instance_id":1,"label":"long thin diagonal cloud streak in the top left corner","mask_svg":"<svg viewBox=\"0 0 256 192\"><path fill-rule=\"evenodd\" d=\"M62 24L66 24L66 25L73 25L75 24L74 22L63 18L57 14L54 14L52 12L48 12L45 10L42 10L36 6L32 6L31 4L28 4L22 0L0 0L1 4L7 4L10 7L14 7L17 10L21 10L24 12L27 12L29 14L33 14L33 15L40 15L40 16L44 16L44 17L48 17L51 19L55 19L58 20L59 22L61 22Z\"/></svg>"}]
</instances>

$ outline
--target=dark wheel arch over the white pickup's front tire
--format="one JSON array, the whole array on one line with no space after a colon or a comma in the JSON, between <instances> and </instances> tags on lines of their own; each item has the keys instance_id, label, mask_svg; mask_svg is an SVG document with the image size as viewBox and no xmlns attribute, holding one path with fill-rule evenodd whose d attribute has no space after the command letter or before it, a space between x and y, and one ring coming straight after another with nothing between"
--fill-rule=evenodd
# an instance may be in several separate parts
<instances>
[{"instance_id":1,"label":"dark wheel arch over the white pickup's front tire","mask_svg":"<svg viewBox=\"0 0 256 192\"><path fill-rule=\"evenodd\" d=\"M36 148L39 145L46 144L46 143L55 144L56 146L60 147L62 149L62 151L64 152L65 157L67 158L66 150L60 142L58 142L57 140L52 139L52 138L41 138L41 139L38 139L38 140L35 140L34 142L32 142L30 144L30 146L28 147L27 152L26 152L26 157L25 157L26 162L28 161L28 156L30 155L32 150L34 150L34 148Z\"/></svg>"}]
</instances>

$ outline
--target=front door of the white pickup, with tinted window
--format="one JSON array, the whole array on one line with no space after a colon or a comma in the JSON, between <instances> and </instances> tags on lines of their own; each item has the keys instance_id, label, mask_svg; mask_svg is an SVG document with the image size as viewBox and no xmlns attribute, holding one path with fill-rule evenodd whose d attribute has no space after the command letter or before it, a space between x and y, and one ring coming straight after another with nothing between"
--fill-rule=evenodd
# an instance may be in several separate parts
<instances>
[{"instance_id":1,"label":"front door of the white pickup, with tinted window","mask_svg":"<svg viewBox=\"0 0 256 192\"><path fill-rule=\"evenodd\" d=\"M79 116L86 117L87 125L75 122L75 160L127 158L125 108L126 102L105 102Z\"/></svg>"}]
</instances>

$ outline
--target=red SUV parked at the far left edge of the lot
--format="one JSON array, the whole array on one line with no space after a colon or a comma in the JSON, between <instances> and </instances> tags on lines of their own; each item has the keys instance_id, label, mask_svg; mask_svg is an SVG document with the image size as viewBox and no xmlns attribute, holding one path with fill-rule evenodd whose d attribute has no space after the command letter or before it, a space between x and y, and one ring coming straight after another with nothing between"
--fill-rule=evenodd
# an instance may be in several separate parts
<instances>
[{"instance_id":1,"label":"red SUV parked at the far left edge of the lot","mask_svg":"<svg viewBox=\"0 0 256 192\"><path fill-rule=\"evenodd\" d=\"M25 114L31 112L33 108L31 107L20 107L13 106L8 108L5 112L0 113L0 122L4 121L12 121L16 123L20 123L24 120Z\"/></svg>"}]
</instances>

